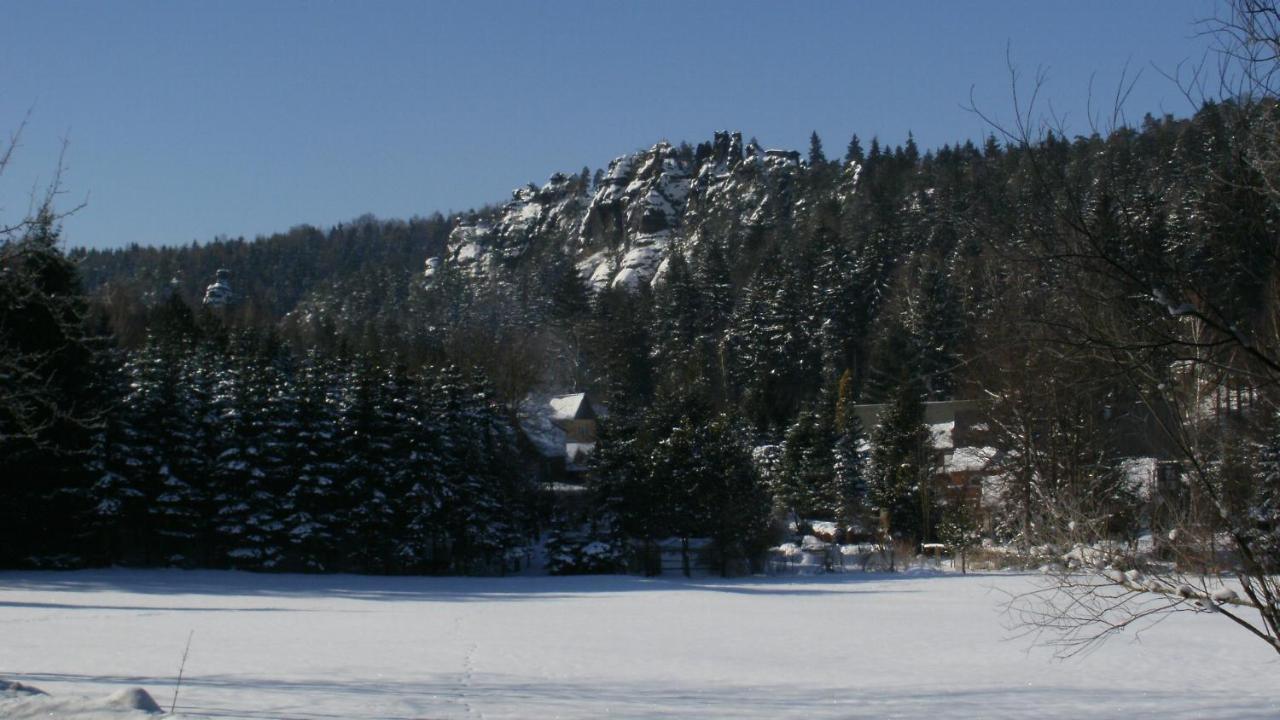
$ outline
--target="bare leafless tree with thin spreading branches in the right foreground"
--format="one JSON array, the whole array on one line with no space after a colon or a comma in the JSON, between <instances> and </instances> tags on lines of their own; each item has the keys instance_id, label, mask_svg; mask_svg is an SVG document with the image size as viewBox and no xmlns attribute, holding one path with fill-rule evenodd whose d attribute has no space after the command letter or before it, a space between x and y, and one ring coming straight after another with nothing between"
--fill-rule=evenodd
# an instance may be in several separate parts
<instances>
[{"instance_id":1,"label":"bare leafless tree with thin spreading branches in the right foreground","mask_svg":"<svg viewBox=\"0 0 1280 720\"><path fill-rule=\"evenodd\" d=\"M1280 652L1280 242L1271 229L1280 219L1280 12L1274 0L1233 0L1206 28L1220 41L1219 78L1230 92L1170 150L1188 174L1178 182L1144 165L1135 133L1119 123L1062 140L1060 123L1037 119L1042 77L1023 102L1012 73L1011 128L988 118L1021 163L1021 200L1042 218L1010 234L1004 260L1055 299L1028 307L1021 337L1029 356L1057 359L1042 365L1039 388L1011 396L1009 425L1027 442L1009 455L1024 466L1006 477L1038 493L1028 502L1038 503L1036 537L1050 562L1043 587L1009 610L1062 655L1180 611L1212 612ZM1114 119L1126 92L1121 82ZM1110 384L1117 405L1139 409L1137 429L1176 457L1164 478L1172 482L1151 488L1152 503L1172 511L1148 528L1149 544L1107 527L1089 502L1094 483L1046 492L1061 487L1051 456L1062 448L1044 441L1073 421L1062 413L1074 406L1050 402L1053 382ZM1098 414L1116 410L1082 397ZM1089 455L1066 450L1068 459ZM1120 455L1102 452L1071 474L1105 478Z\"/></svg>"}]
</instances>

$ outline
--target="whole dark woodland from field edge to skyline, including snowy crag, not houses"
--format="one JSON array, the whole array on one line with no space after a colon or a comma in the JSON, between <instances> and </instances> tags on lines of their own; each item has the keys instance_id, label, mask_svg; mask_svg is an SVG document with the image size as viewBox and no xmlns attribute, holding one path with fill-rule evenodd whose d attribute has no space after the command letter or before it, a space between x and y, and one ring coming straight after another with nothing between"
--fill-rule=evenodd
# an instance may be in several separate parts
<instances>
[{"instance_id":1,"label":"whole dark woodland from field edge to skyline, including snowy crag, not houses","mask_svg":"<svg viewBox=\"0 0 1280 720\"><path fill-rule=\"evenodd\" d=\"M840 156L717 133L452 219L72 258L42 208L0 238L0 565L500 571L545 541L609 550L558 571L652 569L676 537L731 571L878 518L1132 539L1158 520L1137 407L1219 498L1198 527L1274 543L1277 123ZM518 419L570 391L609 410L580 518ZM977 495L923 421L957 397L986 400Z\"/></svg>"}]
</instances>

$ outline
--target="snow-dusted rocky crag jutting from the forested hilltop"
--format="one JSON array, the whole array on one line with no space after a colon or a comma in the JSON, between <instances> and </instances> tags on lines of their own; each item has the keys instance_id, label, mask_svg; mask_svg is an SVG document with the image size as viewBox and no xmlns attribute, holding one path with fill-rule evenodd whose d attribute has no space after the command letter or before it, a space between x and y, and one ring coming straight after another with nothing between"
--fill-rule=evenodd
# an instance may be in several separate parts
<instances>
[{"instance_id":1,"label":"snow-dusted rocky crag jutting from the forested hilltop","mask_svg":"<svg viewBox=\"0 0 1280 720\"><path fill-rule=\"evenodd\" d=\"M707 225L724 233L788 219L801 167L799 152L744 146L737 132L717 132L696 150L659 142L616 158L594 188L556 174L495 211L460 218L424 275L431 282L451 266L483 277L559 243L591 288L639 288L660 279L672 243L696 243Z\"/></svg>"}]
</instances>

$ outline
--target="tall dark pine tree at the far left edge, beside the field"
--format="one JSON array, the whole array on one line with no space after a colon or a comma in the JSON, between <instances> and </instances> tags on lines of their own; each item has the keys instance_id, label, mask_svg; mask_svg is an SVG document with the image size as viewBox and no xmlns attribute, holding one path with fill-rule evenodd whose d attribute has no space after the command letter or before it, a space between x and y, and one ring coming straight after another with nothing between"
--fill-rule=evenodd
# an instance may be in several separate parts
<instances>
[{"instance_id":1,"label":"tall dark pine tree at the far left edge, beside the field","mask_svg":"<svg viewBox=\"0 0 1280 720\"><path fill-rule=\"evenodd\" d=\"M19 225L22 227L22 225ZM86 454L104 401L76 265L49 206L0 236L0 565L83 560L92 510Z\"/></svg>"}]
</instances>

